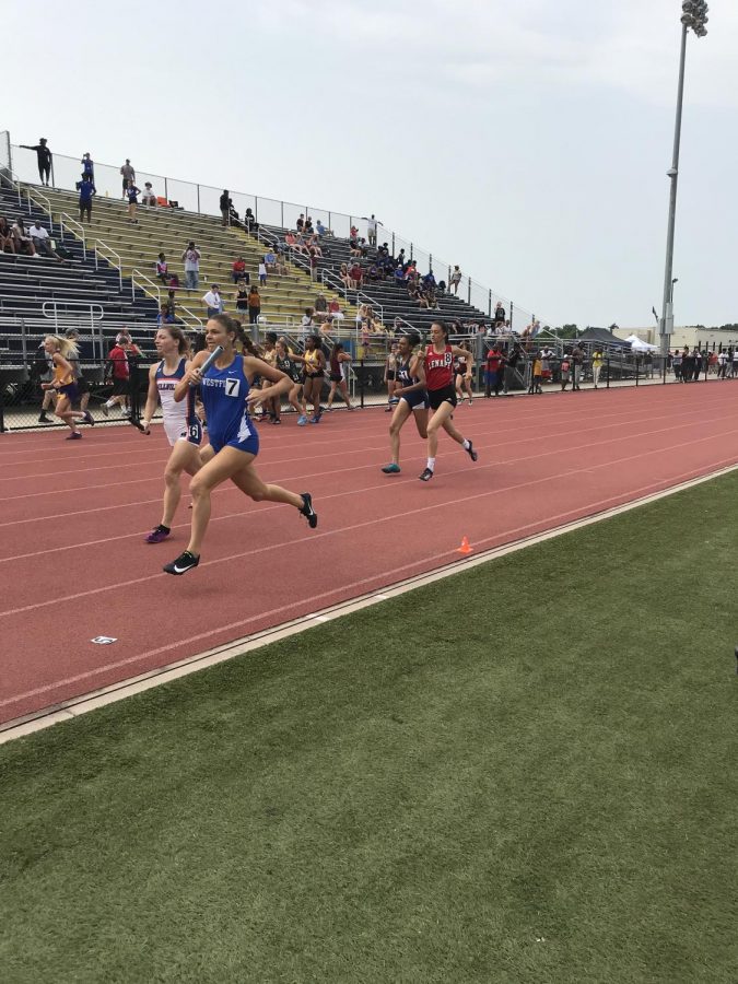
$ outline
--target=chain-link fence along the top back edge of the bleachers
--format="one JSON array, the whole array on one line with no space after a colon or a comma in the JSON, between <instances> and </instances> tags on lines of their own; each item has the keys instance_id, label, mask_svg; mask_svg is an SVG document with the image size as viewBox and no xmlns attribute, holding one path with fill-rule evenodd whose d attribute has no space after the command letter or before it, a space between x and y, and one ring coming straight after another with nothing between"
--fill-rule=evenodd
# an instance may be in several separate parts
<instances>
[{"instance_id":1,"label":"chain-link fence along the top back edge of the bleachers","mask_svg":"<svg viewBox=\"0 0 738 984\"><path fill-rule=\"evenodd\" d=\"M36 154L33 151L20 148L16 144L10 144L11 166L21 180L34 184L38 180L38 167ZM77 181L80 179L82 171L82 162L77 157L70 157L65 154L54 154L51 163L51 183L55 188L73 190ZM98 195L110 198L120 198L122 200L122 177L120 175L120 165L98 164L94 165L95 187ZM152 185L154 195L166 198L167 201L176 201L178 206L186 211L198 212L206 215L220 216L220 197L223 192L222 188L214 188L210 185L200 185L194 181L184 181L179 178L172 178L165 175L156 175L148 172L136 172L136 184L139 188L143 188L145 183ZM359 235L368 241L368 216L351 215L345 212L335 212L327 209L318 209L314 206L298 204L291 201L281 201L273 198L265 198L262 196L249 195L243 191L232 191L229 195L233 200L234 208L243 215L247 208L254 212L255 219L259 224L276 226L279 229L295 229L300 215L311 215L314 224L318 219L326 229L332 231L333 235L340 238L348 238L351 227L355 226ZM414 259L418 261L419 269L432 269L436 276L436 280L446 279L448 284L453 266L445 259L442 259L431 250L419 246L413 239L401 236L399 233L393 232L377 221L376 230L377 243L386 242L391 248L393 256L397 256L400 249L405 248L406 259ZM492 313L496 302L502 302L505 312L514 323L514 327L519 331L522 326L532 324L535 320L534 313L512 300L506 298L499 291L485 286L481 282L473 280L467 274L462 274L459 284L458 296L478 311L492 317ZM539 316L540 317L540 316ZM542 323L546 319L540 318Z\"/></svg>"}]
</instances>

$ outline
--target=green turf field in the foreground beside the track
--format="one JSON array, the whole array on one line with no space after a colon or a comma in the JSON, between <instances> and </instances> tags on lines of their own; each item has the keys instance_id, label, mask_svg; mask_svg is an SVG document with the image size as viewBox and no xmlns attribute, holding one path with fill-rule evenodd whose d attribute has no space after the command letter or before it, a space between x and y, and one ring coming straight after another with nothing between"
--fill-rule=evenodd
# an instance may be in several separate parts
<instances>
[{"instance_id":1,"label":"green turf field in the foreground beside the track","mask_svg":"<svg viewBox=\"0 0 738 984\"><path fill-rule=\"evenodd\" d=\"M0 748L0 980L735 984L737 502Z\"/></svg>"}]
</instances>

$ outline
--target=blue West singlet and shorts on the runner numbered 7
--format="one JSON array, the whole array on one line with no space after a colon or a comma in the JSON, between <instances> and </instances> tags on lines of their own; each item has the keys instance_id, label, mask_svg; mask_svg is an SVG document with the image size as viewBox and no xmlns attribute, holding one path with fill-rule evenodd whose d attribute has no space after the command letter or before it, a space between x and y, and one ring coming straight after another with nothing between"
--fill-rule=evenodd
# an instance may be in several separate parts
<instances>
[{"instance_id":1,"label":"blue West singlet and shorts on the runner numbered 7","mask_svg":"<svg viewBox=\"0 0 738 984\"><path fill-rule=\"evenodd\" d=\"M243 355L236 355L226 368L211 365L202 377L200 394L215 453L226 445L251 455L259 453L259 435L246 407L248 390Z\"/></svg>"}]
</instances>

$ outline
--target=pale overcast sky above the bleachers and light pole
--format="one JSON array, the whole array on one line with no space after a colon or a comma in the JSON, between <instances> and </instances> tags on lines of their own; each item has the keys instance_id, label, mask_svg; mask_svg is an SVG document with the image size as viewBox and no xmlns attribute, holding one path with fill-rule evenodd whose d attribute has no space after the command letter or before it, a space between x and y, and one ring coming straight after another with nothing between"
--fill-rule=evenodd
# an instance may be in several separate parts
<instances>
[{"instance_id":1,"label":"pale overcast sky above the bleachers and light pole","mask_svg":"<svg viewBox=\"0 0 738 984\"><path fill-rule=\"evenodd\" d=\"M374 212L551 324L660 311L678 0L2 9L14 143ZM681 325L738 321L736 0L707 26L688 45Z\"/></svg>"}]
</instances>

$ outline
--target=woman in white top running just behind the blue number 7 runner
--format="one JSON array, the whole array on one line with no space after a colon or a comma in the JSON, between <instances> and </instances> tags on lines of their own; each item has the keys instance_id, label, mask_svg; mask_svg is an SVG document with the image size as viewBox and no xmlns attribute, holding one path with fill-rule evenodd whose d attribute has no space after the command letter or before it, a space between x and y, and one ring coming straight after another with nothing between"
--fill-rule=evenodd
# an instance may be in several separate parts
<instances>
[{"instance_id":1,"label":"woman in white top running just behind the blue number 7 runner","mask_svg":"<svg viewBox=\"0 0 738 984\"><path fill-rule=\"evenodd\" d=\"M176 325L166 325L156 332L156 352L162 361L149 370L149 393L143 411L143 431L151 432L151 418L156 403L162 405L164 433L172 445L172 454L164 470L164 509L162 522L147 536L147 543L161 543L172 531L174 514L179 505L181 489L179 476L183 471L196 475L202 467L200 444L202 425L195 414L195 390L188 399L176 403L174 388L188 372L189 344L185 332Z\"/></svg>"}]
</instances>

